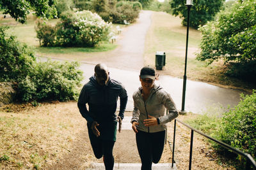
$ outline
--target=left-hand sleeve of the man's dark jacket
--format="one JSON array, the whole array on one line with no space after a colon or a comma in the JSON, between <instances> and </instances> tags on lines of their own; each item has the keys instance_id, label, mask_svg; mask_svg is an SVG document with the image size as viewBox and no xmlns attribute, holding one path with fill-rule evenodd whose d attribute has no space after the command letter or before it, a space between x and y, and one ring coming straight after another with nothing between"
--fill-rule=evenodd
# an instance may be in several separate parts
<instances>
[{"instance_id":1,"label":"left-hand sleeve of the man's dark jacket","mask_svg":"<svg viewBox=\"0 0 256 170\"><path fill-rule=\"evenodd\" d=\"M88 114L89 111L86 108L86 103L88 103L88 95L86 94L86 88L83 87L78 98L77 106L82 117L85 118L87 122L93 122L93 118Z\"/></svg>"}]
</instances>

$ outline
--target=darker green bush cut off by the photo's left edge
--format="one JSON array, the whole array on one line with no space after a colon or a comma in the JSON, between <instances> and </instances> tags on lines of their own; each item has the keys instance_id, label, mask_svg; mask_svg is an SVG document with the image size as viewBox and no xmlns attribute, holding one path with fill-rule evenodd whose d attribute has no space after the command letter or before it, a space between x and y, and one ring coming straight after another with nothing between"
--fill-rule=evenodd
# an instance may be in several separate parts
<instances>
[{"instance_id":1,"label":"darker green bush cut off by the photo's left edge","mask_svg":"<svg viewBox=\"0 0 256 170\"><path fill-rule=\"evenodd\" d=\"M19 43L15 36L6 37L8 27L0 27L0 80L9 81L29 74L35 53L27 45Z\"/></svg>"}]
</instances>

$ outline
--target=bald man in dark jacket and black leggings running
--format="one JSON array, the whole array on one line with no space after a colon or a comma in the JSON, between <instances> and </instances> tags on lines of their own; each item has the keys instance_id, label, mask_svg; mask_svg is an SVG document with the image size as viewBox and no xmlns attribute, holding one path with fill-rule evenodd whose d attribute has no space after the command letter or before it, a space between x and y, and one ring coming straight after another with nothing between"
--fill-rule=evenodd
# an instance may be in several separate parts
<instances>
[{"instance_id":1,"label":"bald man in dark jacket and black leggings running","mask_svg":"<svg viewBox=\"0 0 256 170\"><path fill-rule=\"evenodd\" d=\"M88 134L97 159L103 155L106 170L113 169L113 146L116 141L116 124L121 131L122 119L127 104L127 92L124 86L109 78L105 64L95 66L95 74L81 90L77 106L81 115L87 120ZM116 103L120 97L120 111L116 117ZM89 111L86 108L89 106Z\"/></svg>"}]
</instances>

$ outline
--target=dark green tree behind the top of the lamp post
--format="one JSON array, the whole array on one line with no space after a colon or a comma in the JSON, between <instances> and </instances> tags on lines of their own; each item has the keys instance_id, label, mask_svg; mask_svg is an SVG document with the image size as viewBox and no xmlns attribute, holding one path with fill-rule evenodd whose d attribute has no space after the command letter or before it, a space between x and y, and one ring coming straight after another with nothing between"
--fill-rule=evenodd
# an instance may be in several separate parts
<instances>
[{"instance_id":1,"label":"dark green tree behind the top of the lamp post","mask_svg":"<svg viewBox=\"0 0 256 170\"><path fill-rule=\"evenodd\" d=\"M189 25L197 29L200 25L205 25L207 21L212 20L216 13L221 10L225 0L195 0L190 10ZM170 2L172 14L179 15L182 18L182 25L187 25L188 8L186 0L172 0Z\"/></svg>"}]
</instances>

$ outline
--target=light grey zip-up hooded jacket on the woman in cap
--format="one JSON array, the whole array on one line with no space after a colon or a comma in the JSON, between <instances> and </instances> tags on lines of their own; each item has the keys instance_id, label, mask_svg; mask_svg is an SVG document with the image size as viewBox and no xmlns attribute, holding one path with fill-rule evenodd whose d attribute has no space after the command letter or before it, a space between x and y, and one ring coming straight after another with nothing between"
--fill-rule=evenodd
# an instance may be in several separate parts
<instances>
[{"instance_id":1,"label":"light grey zip-up hooded jacket on the woman in cap","mask_svg":"<svg viewBox=\"0 0 256 170\"><path fill-rule=\"evenodd\" d=\"M179 111L177 110L172 97L159 85L154 84L150 91L150 96L147 101L143 100L142 87L140 87L133 94L134 110L132 113L132 120L139 123L137 129L144 132L160 132L166 129L166 123L171 122L178 117ZM165 108L168 110L166 115ZM159 125L146 127L143 120L148 118L148 115L159 118Z\"/></svg>"}]
</instances>

